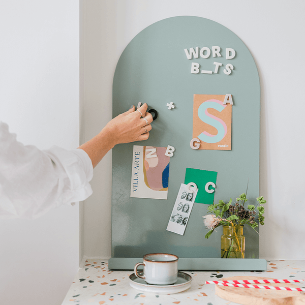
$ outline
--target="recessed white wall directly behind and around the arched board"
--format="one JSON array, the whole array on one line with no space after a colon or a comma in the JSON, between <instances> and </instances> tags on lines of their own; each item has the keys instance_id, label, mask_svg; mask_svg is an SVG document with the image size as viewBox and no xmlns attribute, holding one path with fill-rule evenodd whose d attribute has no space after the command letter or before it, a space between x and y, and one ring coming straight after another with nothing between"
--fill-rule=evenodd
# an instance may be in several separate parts
<instances>
[{"instance_id":1,"label":"recessed white wall directly behind and around the arched board","mask_svg":"<svg viewBox=\"0 0 305 305\"><path fill-rule=\"evenodd\" d=\"M260 257L304 259L305 2L90 0L82 5L81 130L86 140L111 119L117 60L148 25L173 16L200 16L231 29L248 46L261 79L260 191L267 204L265 226L260 229ZM110 153L95 169L92 186L94 195L82 211L82 254L110 256ZM199 238L204 234L203 229Z\"/></svg>"}]
</instances>

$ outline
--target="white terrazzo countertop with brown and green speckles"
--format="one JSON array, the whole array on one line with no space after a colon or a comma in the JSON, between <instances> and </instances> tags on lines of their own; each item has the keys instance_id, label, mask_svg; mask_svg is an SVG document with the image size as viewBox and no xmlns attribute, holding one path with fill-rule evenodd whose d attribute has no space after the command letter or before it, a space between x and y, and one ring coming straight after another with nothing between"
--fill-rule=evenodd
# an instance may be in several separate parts
<instances>
[{"instance_id":1,"label":"white terrazzo countertop with brown and green speckles","mask_svg":"<svg viewBox=\"0 0 305 305\"><path fill-rule=\"evenodd\" d=\"M175 294L147 293L129 284L130 270L109 270L108 260L87 259L79 269L62 305L234 305L215 295L214 284L205 281L234 276L257 276L273 279L305 279L305 260L270 260L266 271L184 271L192 276L191 287ZM305 282L297 284L305 288ZM250 288L245 288L250 289Z\"/></svg>"}]
</instances>

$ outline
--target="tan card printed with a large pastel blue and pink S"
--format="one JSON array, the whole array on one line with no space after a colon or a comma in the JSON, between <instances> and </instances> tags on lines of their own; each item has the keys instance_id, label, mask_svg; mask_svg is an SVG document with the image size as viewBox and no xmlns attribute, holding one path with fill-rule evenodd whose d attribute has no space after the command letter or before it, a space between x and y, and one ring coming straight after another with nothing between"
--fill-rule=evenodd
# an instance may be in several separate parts
<instances>
[{"instance_id":1,"label":"tan card printed with a large pastel blue and pink S","mask_svg":"<svg viewBox=\"0 0 305 305\"><path fill-rule=\"evenodd\" d=\"M194 94L193 138L198 149L231 150L232 105L226 95Z\"/></svg>"}]
</instances>

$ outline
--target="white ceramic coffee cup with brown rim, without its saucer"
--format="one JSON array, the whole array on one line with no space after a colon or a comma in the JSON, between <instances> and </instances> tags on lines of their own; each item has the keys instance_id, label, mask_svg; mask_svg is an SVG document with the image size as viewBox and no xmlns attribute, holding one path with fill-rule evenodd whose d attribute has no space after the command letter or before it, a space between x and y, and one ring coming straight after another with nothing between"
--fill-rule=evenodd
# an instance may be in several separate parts
<instances>
[{"instance_id":1,"label":"white ceramic coffee cup with brown rim, without its saucer","mask_svg":"<svg viewBox=\"0 0 305 305\"><path fill-rule=\"evenodd\" d=\"M178 280L178 257L167 253L152 253L143 256L143 263L135 265L135 275L153 285L170 285ZM138 266L143 265L143 276Z\"/></svg>"}]
</instances>

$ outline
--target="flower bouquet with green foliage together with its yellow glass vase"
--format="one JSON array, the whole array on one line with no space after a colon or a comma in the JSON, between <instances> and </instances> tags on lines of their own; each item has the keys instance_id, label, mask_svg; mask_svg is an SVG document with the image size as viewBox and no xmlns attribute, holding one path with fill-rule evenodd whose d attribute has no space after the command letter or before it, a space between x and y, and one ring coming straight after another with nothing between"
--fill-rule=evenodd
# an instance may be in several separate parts
<instances>
[{"instance_id":1,"label":"flower bouquet with green foliage together with its yellow glass vase","mask_svg":"<svg viewBox=\"0 0 305 305\"><path fill-rule=\"evenodd\" d=\"M218 204L213 203L207 208L212 215L203 216L204 225L209 229L205 238L209 238L217 227L224 227L224 235L221 242L222 258L245 258L245 236L242 235L243 225L248 224L255 231L255 228L258 227L257 221L264 225L263 214L265 210L263 204L266 203L264 197L258 197L257 205L249 204L246 209L245 203L247 201L245 193L236 198L235 204L232 204L232 199L228 203L219 200ZM255 208L257 208L257 211Z\"/></svg>"}]
</instances>

